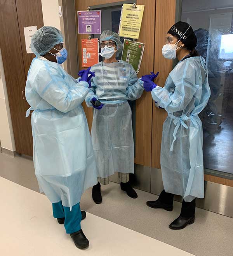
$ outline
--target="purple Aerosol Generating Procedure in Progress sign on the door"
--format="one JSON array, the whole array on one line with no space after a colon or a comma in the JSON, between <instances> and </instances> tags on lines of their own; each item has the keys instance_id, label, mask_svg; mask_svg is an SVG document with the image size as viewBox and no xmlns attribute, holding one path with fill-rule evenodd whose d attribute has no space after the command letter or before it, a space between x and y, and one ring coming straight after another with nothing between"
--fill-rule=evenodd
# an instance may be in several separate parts
<instances>
[{"instance_id":1,"label":"purple Aerosol Generating Procedure in Progress sign on the door","mask_svg":"<svg viewBox=\"0 0 233 256\"><path fill-rule=\"evenodd\" d=\"M78 11L78 34L101 34L101 11Z\"/></svg>"}]
</instances>

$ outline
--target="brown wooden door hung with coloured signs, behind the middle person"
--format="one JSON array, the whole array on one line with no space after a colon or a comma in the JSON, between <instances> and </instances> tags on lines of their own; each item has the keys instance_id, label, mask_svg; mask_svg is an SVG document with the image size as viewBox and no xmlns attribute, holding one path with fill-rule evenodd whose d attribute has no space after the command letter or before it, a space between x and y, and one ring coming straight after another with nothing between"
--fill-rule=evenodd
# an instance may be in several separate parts
<instances>
[{"instance_id":1,"label":"brown wooden door hung with coloured signs, behind the middle person","mask_svg":"<svg viewBox=\"0 0 233 256\"><path fill-rule=\"evenodd\" d=\"M75 0L76 16L77 11L85 11L88 6L111 4L122 2L121 0ZM154 41L155 41L155 0L137 0L137 4L145 5L143 22L138 42L145 43L143 60L138 77L149 74L154 66ZM77 18L77 17L76 17ZM81 39L88 35L81 35L77 32L79 64L81 61ZM82 69L81 65L79 69ZM93 109L83 104L89 127L92 124ZM136 152L135 163L143 166L151 166L151 128L152 128L152 98L149 93L144 92L142 97L136 101Z\"/></svg>"}]
</instances>

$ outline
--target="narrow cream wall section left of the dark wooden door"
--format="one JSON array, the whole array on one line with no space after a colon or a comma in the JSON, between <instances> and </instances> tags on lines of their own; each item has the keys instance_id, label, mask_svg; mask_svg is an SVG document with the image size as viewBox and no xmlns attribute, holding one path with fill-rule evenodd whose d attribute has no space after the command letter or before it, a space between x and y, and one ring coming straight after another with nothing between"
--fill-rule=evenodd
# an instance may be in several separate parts
<instances>
[{"instance_id":1,"label":"narrow cream wall section left of the dark wooden door","mask_svg":"<svg viewBox=\"0 0 233 256\"><path fill-rule=\"evenodd\" d=\"M0 141L2 148L15 151L14 134L12 129L7 87L5 82L2 54L0 49Z\"/></svg>"}]
</instances>

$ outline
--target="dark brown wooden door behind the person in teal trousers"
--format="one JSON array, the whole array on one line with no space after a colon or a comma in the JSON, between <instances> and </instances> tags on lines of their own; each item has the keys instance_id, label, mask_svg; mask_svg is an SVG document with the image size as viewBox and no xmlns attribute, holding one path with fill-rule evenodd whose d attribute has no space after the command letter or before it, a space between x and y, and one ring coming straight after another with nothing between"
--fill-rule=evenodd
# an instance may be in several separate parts
<instances>
[{"instance_id":1,"label":"dark brown wooden door behind the person in teal trousers","mask_svg":"<svg viewBox=\"0 0 233 256\"><path fill-rule=\"evenodd\" d=\"M27 54L23 27L43 26L42 6L38 0L0 0L0 47L7 85L16 151L33 155L31 120L24 96L26 77L34 55Z\"/></svg>"}]
</instances>

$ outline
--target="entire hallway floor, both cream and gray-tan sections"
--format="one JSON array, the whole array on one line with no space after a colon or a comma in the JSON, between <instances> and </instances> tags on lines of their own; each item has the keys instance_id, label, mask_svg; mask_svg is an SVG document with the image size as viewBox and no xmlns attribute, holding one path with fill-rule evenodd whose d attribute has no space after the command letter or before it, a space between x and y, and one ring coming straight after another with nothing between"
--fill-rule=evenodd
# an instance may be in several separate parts
<instances>
[{"instance_id":1,"label":"entire hallway floor, both cream and gray-tan sections","mask_svg":"<svg viewBox=\"0 0 233 256\"><path fill-rule=\"evenodd\" d=\"M81 251L52 217L49 200L38 193L32 160L0 154L0 163L1 256L232 256L232 218L196 208L194 224L170 230L181 203L174 201L173 212L155 210L146 201L157 196L137 190L134 200L113 182L102 186L100 205L93 202L91 189L82 196L87 218L81 225L90 246Z\"/></svg>"}]
</instances>

